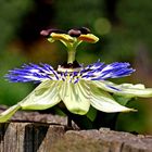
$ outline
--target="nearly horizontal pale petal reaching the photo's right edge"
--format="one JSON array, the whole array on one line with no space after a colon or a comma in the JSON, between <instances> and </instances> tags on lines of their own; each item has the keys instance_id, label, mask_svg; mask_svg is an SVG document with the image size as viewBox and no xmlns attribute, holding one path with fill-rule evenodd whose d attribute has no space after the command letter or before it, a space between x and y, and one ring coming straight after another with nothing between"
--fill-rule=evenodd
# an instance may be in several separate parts
<instances>
[{"instance_id":1,"label":"nearly horizontal pale petal reaching the photo's right edge","mask_svg":"<svg viewBox=\"0 0 152 152\"><path fill-rule=\"evenodd\" d=\"M118 96L125 96L127 98L134 98L134 97L142 97L142 98L150 98L152 97L152 88L144 88L144 85L142 84L122 84L116 85L107 80L101 80L101 81L91 81L91 84L96 85L97 87L113 92Z\"/></svg>"}]
</instances>

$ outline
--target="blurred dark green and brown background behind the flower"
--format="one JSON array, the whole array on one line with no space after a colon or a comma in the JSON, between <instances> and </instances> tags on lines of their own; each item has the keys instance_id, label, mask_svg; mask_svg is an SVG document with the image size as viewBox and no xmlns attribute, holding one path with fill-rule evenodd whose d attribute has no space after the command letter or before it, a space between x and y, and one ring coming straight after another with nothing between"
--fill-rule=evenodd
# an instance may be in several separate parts
<instances>
[{"instance_id":1,"label":"blurred dark green and brown background behind the flower","mask_svg":"<svg viewBox=\"0 0 152 152\"><path fill-rule=\"evenodd\" d=\"M9 69L23 63L66 61L60 43L49 43L41 29L86 26L100 38L79 47L80 63L130 62L136 73L116 83L141 83L152 87L152 2L150 0L5 0L0 1L0 104L12 105L35 87L4 79ZM118 116L117 129L152 134L152 99L138 99L128 106L138 113Z\"/></svg>"}]
</instances>

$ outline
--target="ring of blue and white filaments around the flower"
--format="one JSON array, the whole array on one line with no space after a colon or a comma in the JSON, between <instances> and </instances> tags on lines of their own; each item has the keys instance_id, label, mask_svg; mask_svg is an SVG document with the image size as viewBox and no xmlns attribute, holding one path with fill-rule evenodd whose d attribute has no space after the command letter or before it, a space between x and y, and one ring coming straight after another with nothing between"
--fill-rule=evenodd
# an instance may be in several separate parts
<instances>
[{"instance_id":1,"label":"ring of blue and white filaments around the flower","mask_svg":"<svg viewBox=\"0 0 152 152\"><path fill-rule=\"evenodd\" d=\"M66 80L67 77L71 83L78 83L80 79L85 80L104 80L107 78L119 78L129 76L135 69L129 67L129 63L114 62L112 64L104 64L100 61L81 67L79 72L58 72L49 64L24 64L22 68L14 68L10 71L5 78L12 83L40 83L46 79L50 80Z\"/></svg>"}]
</instances>

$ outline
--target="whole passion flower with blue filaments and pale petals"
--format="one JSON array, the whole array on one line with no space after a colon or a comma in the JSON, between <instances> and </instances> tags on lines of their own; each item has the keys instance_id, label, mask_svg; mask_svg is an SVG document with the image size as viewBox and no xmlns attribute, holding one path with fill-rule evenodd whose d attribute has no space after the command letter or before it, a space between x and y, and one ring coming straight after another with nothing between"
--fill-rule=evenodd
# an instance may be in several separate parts
<instances>
[{"instance_id":1,"label":"whole passion flower with blue filaments and pale petals","mask_svg":"<svg viewBox=\"0 0 152 152\"><path fill-rule=\"evenodd\" d=\"M76 48L83 41L97 42L98 37L86 27L66 31L59 29L42 30L49 41L60 40L67 48L67 63L59 65L55 71L49 64L24 64L5 76L13 83L40 83L25 99L0 114L0 122L8 121L17 110L46 110L63 101L74 114L85 115L90 105L106 112L129 112L134 109L119 104L112 94L130 99L134 97L152 97L152 89L143 85L116 85L109 78L129 76L135 69L129 63L104 64L100 61L84 66L75 60Z\"/></svg>"}]
</instances>

